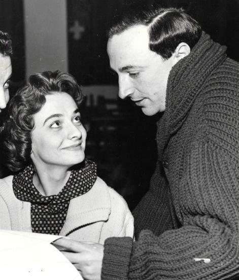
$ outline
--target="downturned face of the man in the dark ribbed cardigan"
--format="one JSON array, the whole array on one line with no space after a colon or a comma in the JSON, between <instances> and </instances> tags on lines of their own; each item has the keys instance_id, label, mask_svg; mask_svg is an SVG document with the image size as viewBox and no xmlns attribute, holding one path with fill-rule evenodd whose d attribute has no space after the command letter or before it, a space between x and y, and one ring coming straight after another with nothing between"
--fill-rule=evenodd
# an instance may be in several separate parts
<instances>
[{"instance_id":1,"label":"downturned face of the man in the dark ribbed cardigan","mask_svg":"<svg viewBox=\"0 0 239 280\"><path fill-rule=\"evenodd\" d=\"M119 77L119 97L130 97L145 115L163 112L168 75L177 61L174 56L163 60L149 49L147 26L136 25L114 35L107 51Z\"/></svg>"}]
</instances>

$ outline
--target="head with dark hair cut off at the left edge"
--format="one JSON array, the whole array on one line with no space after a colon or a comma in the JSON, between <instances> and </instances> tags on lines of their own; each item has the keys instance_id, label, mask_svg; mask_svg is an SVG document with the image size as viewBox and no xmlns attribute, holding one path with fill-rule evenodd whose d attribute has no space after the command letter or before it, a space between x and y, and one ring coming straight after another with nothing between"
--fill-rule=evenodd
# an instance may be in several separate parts
<instances>
[{"instance_id":1,"label":"head with dark hair cut off at the left edge","mask_svg":"<svg viewBox=\"0 0 239 280\"><path fill-rule=\"evenodd\" d=\"M9 101L9 80L12 75L12 41L8 33L0 31L0 112Z\"/></svg>"}]
</instances>

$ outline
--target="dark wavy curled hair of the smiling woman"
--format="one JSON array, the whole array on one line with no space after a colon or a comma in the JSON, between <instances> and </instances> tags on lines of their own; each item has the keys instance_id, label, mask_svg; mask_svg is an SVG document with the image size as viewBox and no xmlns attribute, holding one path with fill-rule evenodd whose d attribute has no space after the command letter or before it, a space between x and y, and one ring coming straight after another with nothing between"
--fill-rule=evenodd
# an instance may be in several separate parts
<instances>
[{"instance_id":1,"label":"dark wavy curled hair of the smiling woman","mask_svg":"<svg viewBox=\"0 0 239 280\"><path fill-rule=\"evenodd\" d=\"M20 171L31 162L31 131L35 126L33 115L45 104L45 95L54 91L68 93L78 107L83 100L75 78L59 71L31 75L28 83L10 100L8 114L1 127L2 159L10 170Z\"/></svg>"}]
</instances>

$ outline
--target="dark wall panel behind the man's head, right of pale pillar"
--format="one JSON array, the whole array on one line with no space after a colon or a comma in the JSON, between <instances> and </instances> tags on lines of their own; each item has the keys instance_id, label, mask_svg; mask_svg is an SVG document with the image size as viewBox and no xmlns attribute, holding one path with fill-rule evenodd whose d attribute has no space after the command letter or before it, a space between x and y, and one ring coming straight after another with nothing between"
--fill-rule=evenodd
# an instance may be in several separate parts
<instances>
[{"instance_id":1,"label":"dark wall panel behind the man's head, right of pale pillar","mask_svg":"<svg viewBox=\"0 0 239 280\"><path fill-rule=\"evenodd\" d=\"M80 40L75 40L69 31L70 72L79 77L82 84L115 83L106 53L108 23L124 10L152 5L184 8L215 41L228 46L230 57L239 59L238 0L68 0L69 27L79 21L85 29Z\"/></svg>"}]
</instances>

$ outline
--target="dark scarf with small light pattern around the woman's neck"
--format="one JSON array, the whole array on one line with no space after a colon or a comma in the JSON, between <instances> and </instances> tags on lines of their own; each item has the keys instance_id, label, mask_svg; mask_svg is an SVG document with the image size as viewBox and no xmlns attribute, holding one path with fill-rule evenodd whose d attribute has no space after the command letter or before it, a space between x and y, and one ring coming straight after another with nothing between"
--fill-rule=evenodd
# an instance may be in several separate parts
<instances>
[{"instance_id":1,"label":"dark scarf with small light pattern around the woman's neck","mask_svg":"<svg viewBox=\"0 0 239 280\"><path fill-rule=\"evenodd\" d=\"M35 168L28 165L13 177L13 191L21 201L31 203L32 232L56 234L65 222L70 200L88 192L96 180L96 164L85 160L85 166L72 170L65 186L57 195L44 196L32 183Z\"/></svg>"}]
</instances>

